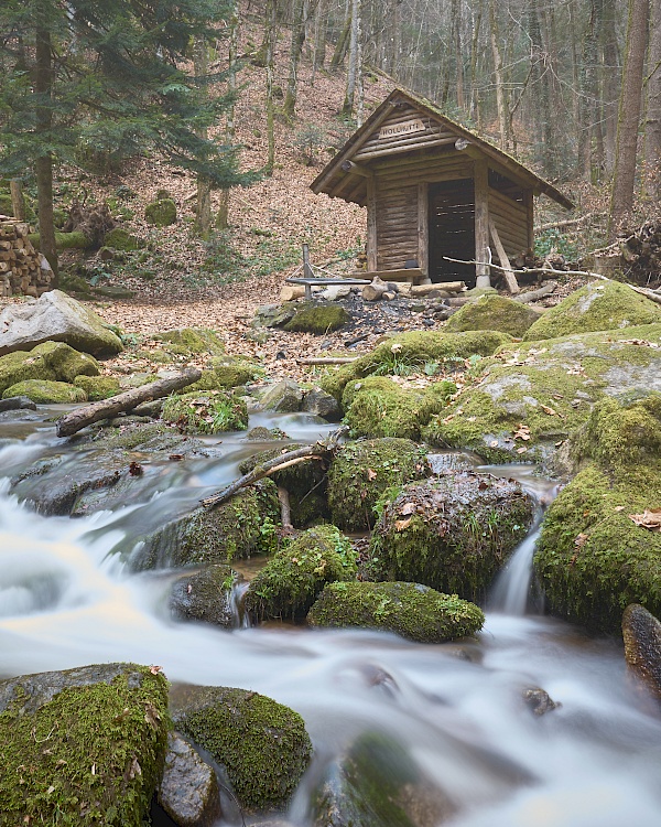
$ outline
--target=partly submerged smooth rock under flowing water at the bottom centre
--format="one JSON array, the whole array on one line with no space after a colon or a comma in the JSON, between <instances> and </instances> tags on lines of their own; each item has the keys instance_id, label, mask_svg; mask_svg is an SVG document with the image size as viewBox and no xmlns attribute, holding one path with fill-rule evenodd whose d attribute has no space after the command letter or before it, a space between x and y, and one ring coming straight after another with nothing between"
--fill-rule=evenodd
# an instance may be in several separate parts
<instances>
[{"instance_id":1,"label":"partly submerged smooth rock under flowing water at the bottom centre","mask_svg":"<svg viewBox=\"0 0 661 827\"><path fill-rule=\"evenodd\" d=\"M437 827L455 807L395 739L360 735L312 796L314 827Z\"/></svg>"}]
</instances>

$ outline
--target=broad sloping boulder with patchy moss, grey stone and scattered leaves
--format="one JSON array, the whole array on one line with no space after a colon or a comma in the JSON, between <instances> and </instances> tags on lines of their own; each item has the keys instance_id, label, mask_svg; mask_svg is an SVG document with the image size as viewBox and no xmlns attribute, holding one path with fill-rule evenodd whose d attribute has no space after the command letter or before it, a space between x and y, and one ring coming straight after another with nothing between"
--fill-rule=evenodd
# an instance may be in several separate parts
<instances>
[{"instance_id":1,"label":"broad sloping boulder with patchy moss, grey stone and scattered leaves","mask_svg":"<svg viewBox=\"0 0 661 827\"><path fill-rule=\"evenodd\" d=\"M441 448L468 448L487 462L553 462L556 443L604 396L661 391L661 324L586 333L505 347L480 363L422 437Z\"/></svg>"}]
</instances>

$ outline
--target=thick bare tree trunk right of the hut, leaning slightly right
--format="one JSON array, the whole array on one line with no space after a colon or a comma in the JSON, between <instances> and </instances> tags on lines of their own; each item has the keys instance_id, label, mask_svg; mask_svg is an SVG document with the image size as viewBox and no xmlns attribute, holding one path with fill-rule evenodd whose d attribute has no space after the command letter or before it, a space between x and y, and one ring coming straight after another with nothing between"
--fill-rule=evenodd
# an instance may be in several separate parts
<instances>
[{"instance_id":1,"label":"thick bare tree trunk right of the hut, leaning slightly right","mask_svg":"<svg viewBox=\"0 0 661 827\"><path fill-rule=\"evenodd\" d=\"M648 42L649 0L629 0L627 53L617 123L615 172L608 216L608 236L614 238L633 206L640 101Z\"/></svg>"}]
</instances>

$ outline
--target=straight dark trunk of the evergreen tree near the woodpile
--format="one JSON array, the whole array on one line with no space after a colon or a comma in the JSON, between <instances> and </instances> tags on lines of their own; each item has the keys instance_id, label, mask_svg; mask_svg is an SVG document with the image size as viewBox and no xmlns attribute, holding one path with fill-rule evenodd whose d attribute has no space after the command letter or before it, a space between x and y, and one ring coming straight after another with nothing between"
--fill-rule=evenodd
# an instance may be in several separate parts
<instances>
[{"instance_id":1,"label":"straight dark trunk of the evergreen tree near the woodpile","mask_svg":"<svg viewBox=\"0 0 661 827\"><path fill-rule=\"evenodd\" d=\"M36 133L47 143L48 132L53 128L51 109L53 69L51 63L51 33L46 29L36 30L34 92L40 105L35 107ZM50 153L41 155L35 162L36 197L39 212L40 249L53 270L52 287L58 287L57 249L55 246L55 225L53 224L53 158Z\"/></svg>"}]
</instances>

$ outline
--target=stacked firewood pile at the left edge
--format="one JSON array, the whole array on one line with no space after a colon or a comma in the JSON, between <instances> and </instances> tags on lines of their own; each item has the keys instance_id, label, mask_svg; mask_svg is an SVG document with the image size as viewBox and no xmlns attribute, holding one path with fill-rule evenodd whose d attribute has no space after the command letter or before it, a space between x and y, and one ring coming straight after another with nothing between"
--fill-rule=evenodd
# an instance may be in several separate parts
<instances>
[{"instance_id":1,"label":"stacked firewood pile at the left edge","mask_svg":"<svg viewBox=\"0 0 661 827\"><path fill-rule=\"evenodd\" d=\"M51 289L53 270L28 238L24 222L0 215L0 297L14 293L35 299Z\"/></svg>"}]
</instances>

